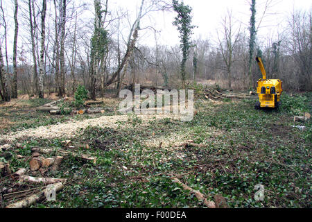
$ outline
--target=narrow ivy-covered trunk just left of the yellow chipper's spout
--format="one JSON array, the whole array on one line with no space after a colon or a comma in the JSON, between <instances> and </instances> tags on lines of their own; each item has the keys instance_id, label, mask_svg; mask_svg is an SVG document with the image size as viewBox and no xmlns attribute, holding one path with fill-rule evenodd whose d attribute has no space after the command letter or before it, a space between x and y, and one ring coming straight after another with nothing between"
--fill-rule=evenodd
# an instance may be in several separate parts
<instances>
[{"instance_id":1,"label":"narrow ivy-covered trunk just left of the yellow chipper's spout","mask_svg":"<svg viewBox=\"0 0 312 222\"><path fill-rule=\"evenodd\" d=\"M250 5L252 15L250 17L250 40L249 40L249 61L248 61L248 76L249 76L249 87L252 89L252 61L254 55L254 44L256 43L256 0L252 0Z\"/></svg>"}]
</instances>

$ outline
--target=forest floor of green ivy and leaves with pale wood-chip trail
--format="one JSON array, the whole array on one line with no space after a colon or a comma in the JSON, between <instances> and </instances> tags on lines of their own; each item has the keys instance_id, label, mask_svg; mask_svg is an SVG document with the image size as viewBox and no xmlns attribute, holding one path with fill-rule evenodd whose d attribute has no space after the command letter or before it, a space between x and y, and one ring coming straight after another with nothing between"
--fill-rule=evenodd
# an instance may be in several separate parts
<instances>
[{"instance_id":1,"label":"forest floor of green ivy and leaves with pale wood-chip trail","mask_svg":"<svg viewBox=\"0 0 312 222\"><path fill-rule=\"evenodd\" d=\"M67 178L55 201L31 207L206 207L173 178L208 200L223 196L228 207L311 207L311 121L294 123L293 116L311 113L312 94L281 99L275 111L254 110L254 99L197 98L193 121L182 122L171 114L117 114L118 99L104 99L101 107L107 111L101 114L52 116L35 111L51 100L21 97L0 104L0 146L23 144L1 151L0 162L10 163L12 172L29 169L33 147L97 158L94 164L69 155L58 171L27 171L35 177ZM64 140L89 148L64 147ZM262 201L254 199L259 184ZM0 179L0 187L18 194L42 189L17 183L10 175ZM3 195L0 207L25 196Z\"/></svg>"}]
</instances>

